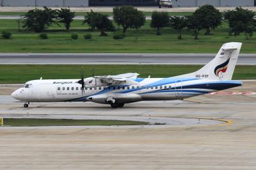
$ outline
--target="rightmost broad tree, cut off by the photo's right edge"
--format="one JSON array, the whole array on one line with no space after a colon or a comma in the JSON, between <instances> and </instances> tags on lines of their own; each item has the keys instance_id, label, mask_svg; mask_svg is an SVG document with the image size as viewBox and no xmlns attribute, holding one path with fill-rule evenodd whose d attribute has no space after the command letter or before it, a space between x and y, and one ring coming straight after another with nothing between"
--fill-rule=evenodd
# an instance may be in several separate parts
<instances>
[{"instance_id":1,"label":"rightmost broad tree, cut off by the photo's right edge","mask_svg":"<svg viewBox=\"0 0 256 170\"><path fill-rule=\"evenodd\" d=\"M230 27L229 34L234 33L235 36L240 33L245 33L246 40L248 40L253 35L255 31L256 21L255 12L251 10L245 10L241 7L237 7L236 10L228 10L224 13L225 20L228 20L228 25Z\"/></svg>"}]
</instances>

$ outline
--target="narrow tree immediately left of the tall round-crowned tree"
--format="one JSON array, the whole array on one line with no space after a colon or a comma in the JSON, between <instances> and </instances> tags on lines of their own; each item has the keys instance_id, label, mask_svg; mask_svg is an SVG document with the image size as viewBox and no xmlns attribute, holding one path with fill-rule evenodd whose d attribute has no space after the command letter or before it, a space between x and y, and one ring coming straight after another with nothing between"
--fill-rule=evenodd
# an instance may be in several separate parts
<instances>
[{"instance_id":1,"label":"narrow tree immediately left of the tall round-crowned tree","mask_svg":"<svg viewBox=\"0 0 256 170\"><path fill-rule=\"evenodd\" d=\"M200 22L199 15L190 15L187 17L188 19L188 29L194 31L195 40L198 40L199 31L203 28L202 22Z\"/></svg>"}]
</instances>

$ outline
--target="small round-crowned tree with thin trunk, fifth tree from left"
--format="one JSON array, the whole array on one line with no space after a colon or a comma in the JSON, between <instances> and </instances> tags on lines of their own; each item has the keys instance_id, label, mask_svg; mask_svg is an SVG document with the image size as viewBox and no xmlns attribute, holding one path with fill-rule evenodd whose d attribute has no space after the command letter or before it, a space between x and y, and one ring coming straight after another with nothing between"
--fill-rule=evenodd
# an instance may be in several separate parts
<instances>
[{"instance_id":1,"label":"small round-crowned tree with thin trunk, fifth tree from left","mask_svg":"<svg viewBox=\"0 0 256 170\"><path fill-rule=\"evenodd\" d=\"M153 12L150 27L157 29L156 35L161 35L160 29L169 26L169 15L167 12Z\"/></svg>"}]
</instances>

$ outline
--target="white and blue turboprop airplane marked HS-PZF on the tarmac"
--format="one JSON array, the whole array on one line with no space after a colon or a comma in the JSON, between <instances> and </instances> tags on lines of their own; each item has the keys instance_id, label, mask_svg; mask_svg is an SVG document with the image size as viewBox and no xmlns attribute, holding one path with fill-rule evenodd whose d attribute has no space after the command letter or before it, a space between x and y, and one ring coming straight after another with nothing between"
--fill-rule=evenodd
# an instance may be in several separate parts
<instances>
[{"instance_id":1,"label":"white and blue turboprop airplane marked HS-PZF on the tarmac","mask_svg":"<svg viewBox=\"0 0 256 170\"><path fill-rule=\"evenodd\" d=\"M124 73L40 79L26 82L12 97L24 102L24 107L30 102L95 102L116 108L143 100L182 100L241 86L243 82L231 80L241 45L225 43L212 61L193 73L168 78L138 78L138 73Z\"/></svg>"}]
</instances>

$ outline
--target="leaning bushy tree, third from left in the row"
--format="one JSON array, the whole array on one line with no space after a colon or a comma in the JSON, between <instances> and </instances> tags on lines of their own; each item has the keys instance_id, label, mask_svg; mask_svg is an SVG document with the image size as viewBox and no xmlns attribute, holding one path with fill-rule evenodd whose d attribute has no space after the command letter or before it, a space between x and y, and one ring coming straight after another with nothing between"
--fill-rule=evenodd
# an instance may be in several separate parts
<instances>
[{"instance_id":1,"label":"leaning bushy tree, third from left in the row","mask_svg":"<svg viewBox=\"0 0 256 170\"><path fill-rule=\"evenodd\" d=\"M115 29L111 20L108 19L108 15L93 11L87 14L84 16L83 24L88 24L92 29L99 29L100 36L107 36L108 34L105 31L113 31Z\"/></svg>"}]
</instances>

